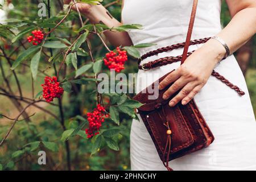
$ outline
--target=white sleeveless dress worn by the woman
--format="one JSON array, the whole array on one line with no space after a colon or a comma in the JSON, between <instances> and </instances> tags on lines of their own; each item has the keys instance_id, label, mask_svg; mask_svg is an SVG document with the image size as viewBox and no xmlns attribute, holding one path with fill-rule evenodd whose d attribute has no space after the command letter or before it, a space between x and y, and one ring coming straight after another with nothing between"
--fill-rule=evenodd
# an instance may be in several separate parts
<instances>
[{"instance_id":1,"label":"white sleeveless dress worn by the woman","mask_svg":"<svg viewBox=\"0 0 256 182\"><path fill-rule=\"evenodd\" d=\"M125 0L124 24L142 24L143 30L131 30L135 44L156 43L141 48L141 55L156 48L185 41L192 0ZM214 36L221 31L221 0L199 1L192 39ZM191 46L189 51L199 48ZM166 56L181 55L183 49L148 57L142 63ZM196 61L195 61L196 64ZM138 72L137 93L159 77L179 67L180 63ZM203 150L172 160L174 170L256 170L256 122L245 79L235 57L229 56L215 69L246 93L238 96L217 78L211 76L195 101L215 140ZM158 75L154 77L152 75ZM131 169L166 170L142 121L131 127Z\"/></svg>"}]
</instances>

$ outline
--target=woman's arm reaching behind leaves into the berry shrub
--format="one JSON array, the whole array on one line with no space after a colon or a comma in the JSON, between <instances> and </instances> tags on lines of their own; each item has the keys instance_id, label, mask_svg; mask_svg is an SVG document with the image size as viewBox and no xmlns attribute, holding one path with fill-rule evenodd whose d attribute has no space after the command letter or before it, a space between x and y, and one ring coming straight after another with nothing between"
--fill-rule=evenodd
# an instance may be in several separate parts
<instances>
[{"instance_id":1,"label":"woman's arm reaching behind leaves into the berry shrub","mask_svg":"<svg viewBox=\"0 0 256 182\"><path fill-rule=\"evenodd\" d=\"M71 0L64 0L65 4L69 4L70 2ZM96 24L102 22L108 27L118 27L122 25L122 23L113 18L102 5L88 5L80 2L77 3L77 7L79 7L81 14L84 14L92 23ZM76 10L76 7L73 6L72 9ZM105 31L104 35L113 46L131 46L133 44L127 32Z\"/></svg>"}]
</instances>

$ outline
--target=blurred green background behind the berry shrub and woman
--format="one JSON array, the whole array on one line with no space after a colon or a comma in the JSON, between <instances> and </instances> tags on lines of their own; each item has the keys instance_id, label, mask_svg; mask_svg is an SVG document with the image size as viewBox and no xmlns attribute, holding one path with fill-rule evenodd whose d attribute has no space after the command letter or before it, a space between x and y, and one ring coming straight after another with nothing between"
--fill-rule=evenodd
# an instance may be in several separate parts
<instances>
[{"instance_id":1,"label":"blurred green background behind the berry shrub and woman","mask_svg":"<svg viewBox=\"0 0 256 182\"><path fill-rule=\"evenodd\" d=\"M32 21L35 19L38 13L38 3L42 1L5 1L5 5L1 7L2 13L6 13L6 18L10 24L15 24L16 20ZM104 5L108 5L110 2L104 1ZM62 1L51 1L51 15L59 15L61 10ZM4 3L2 3L3 5ZM8 4L8 6L7 6ZM61 6L60 6L61 5ZM121 2L114 3L113 6L109 6L108 10L117 19L121 19ZM1 13L1 11L0 11ZM3 17L3 16L2 16ZM83 17L85 19L85 17ZM76 31L78 27L78 16L76 13L71 13L69 18L65 20L64 26L56 30L61 36L68 36L69 38L74 36L73 31ZM222 5L221 22L223 26L228 24L230 15L228 7L225 1ZM18 21L18 25L22 27L22 22ZM1 30L0 30L1 31ZM1 35L1 44L6 48L6 52L10 53L14 47L10 44L9 35L6 38ZM104 47L100 41L96 38L92 38L93 54L100 57L105 53ZM112 47L113 48L113 47ZM1 51L0 51L1 53ZM246 77L247 86L249 88L251 102L256 113L256 36L251 39L245 46L236 52L236 57L240 67ZM89 60L89 58L86 58ZM79 57L79 63L83 61ZM15 85L15 79L11 74L9 65L3 57L0 57L3 69L6 71L7 77L10 79L10 85ZM40 65L42 69L46 68L46 65ZM53 73L53 69L46 71L49 75ZM135 61L129 61L126 65L125 73L137 72L137 64ZM23 88L23 95L25 97L31 97L31 73L26 66L18 69L17 75L20 80L20 84ZM34 83L34 94L38 93L41 89L40 84L43 82L44 75L39 75L38 80ZM3 84L3 77L0 76L0 85ZM85 92L86 87L86 92ZM94 88L90 88L89 85L76 86L75 92L71 94L65 94L64 96L64 115L65 115L65 127L72 129L79 125L79 119L75 118L76 115L85 115L88 111L92 110L94 100L90 97L94 92ZM89 90L89 92L88 92ZM13 86L14 93L18 93L18 88ZM12 102L8 97L0 95L0 114L5 114L10 118L14 118L19 113L15 109ZM23 103L22 103L23 104ZM58 109L55 106L41 103L39 105L45 109L58 113ZM27 124L24 121L20 121L15 125L14 130L11 132L10 137L6 143L0 147L0 169L5 170L63 170L67 169L67 160L64 142L60 140L63 130L55 118L46 115L40 109L36 107L30 107L27 111L28 114L34 114L32 117L32 123ZM120 115L122 133L116 136L116 140L119 143L119 151L110 150L108 147L102 147L96 155L90 156L91 143L81 134L69 140L70 144L70 156L71 169L73 170L129 170L129 135L131 119L126 115ZM0 140L9 130L11 121L2 117L0 118ZM113 123L109 123L108 127L114 126ZM30 130L36 131L36 135L31 134ZM35 142L38 138L43 141L54 141L56 146L53 146L51 150L40 145L36 150L31 151L31 146L26 146L27 143ZM26 148L27 147L27 148ZM40 166L37 162L39 150L47 151L47 165Z\"/></svg>"}]
</instances>

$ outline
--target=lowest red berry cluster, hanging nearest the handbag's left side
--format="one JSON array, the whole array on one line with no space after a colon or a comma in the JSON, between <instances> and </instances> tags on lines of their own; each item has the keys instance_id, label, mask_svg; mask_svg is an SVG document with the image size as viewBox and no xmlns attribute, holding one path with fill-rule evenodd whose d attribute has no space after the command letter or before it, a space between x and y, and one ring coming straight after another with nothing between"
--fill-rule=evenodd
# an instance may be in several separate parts
<instances>
[{"instance_id":1,"label":"lowest red berry cluster, hanging nearest the handbag's left side","mask_svg":"<svg viewBox=\"0 0 256 182\"><path fill-rule=\"evenodd\" d=\"M108 118L109 114L106 114L105 108L100 104L93 110L92 113L87 113L87 119L89 122L89 128L85 129L87 138L92 138L94 135L100 134L98 130L102 123L105 121L105 118Z\"/></svg>"}]
</instances>

